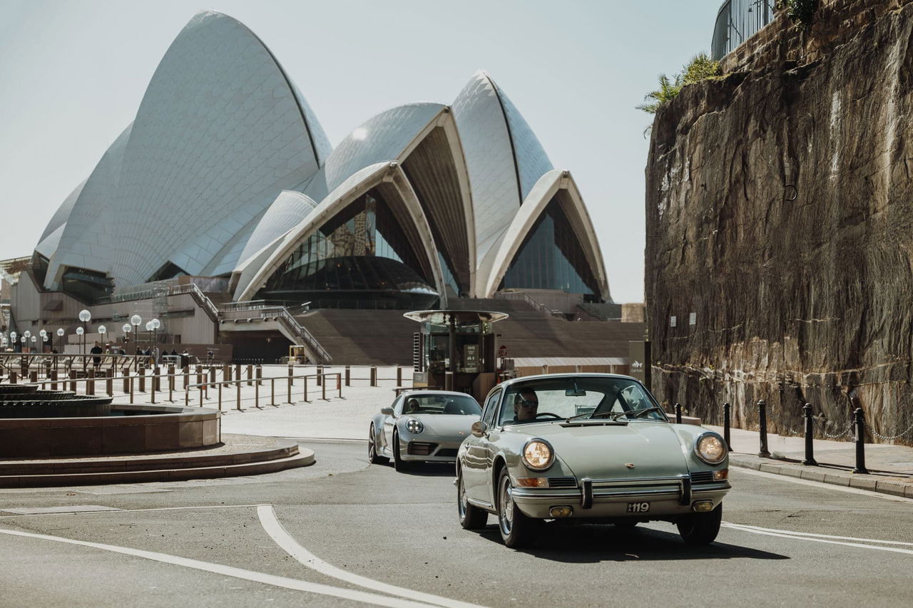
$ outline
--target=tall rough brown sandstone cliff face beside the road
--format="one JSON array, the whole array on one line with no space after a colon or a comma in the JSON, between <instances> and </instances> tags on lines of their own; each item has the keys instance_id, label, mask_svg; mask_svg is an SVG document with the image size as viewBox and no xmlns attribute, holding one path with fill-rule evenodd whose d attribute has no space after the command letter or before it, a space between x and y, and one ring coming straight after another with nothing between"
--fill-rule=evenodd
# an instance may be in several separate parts
<instances>
[{"instance_id":1,"label":"tall rough brown sandstone cliff face beside the road","mask_svg":"<svg viewBox=\"0 0 913 608\"><path fill-rule=\"evenodd\" d=\"M656 115L653 389L710 423L728 401L754 428L763 398L772 432L801 433L805 402L831 434L855 407L882 435L913 425L913 4L867 10Z\"/></svg>"}]
</instances>

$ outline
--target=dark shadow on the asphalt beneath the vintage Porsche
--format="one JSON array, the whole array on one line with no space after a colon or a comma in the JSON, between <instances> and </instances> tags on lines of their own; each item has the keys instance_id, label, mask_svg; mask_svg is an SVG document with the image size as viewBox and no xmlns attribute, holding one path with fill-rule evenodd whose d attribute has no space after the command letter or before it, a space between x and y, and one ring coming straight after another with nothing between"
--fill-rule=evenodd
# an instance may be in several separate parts
<instances>
[{"instance_id":1,"label":"dark shadow on the asphalt beneath the vintage Porsche","mask_svg":"<svg viewBox=\"0 0 913 608\"><path fill-rule=\"evenodd\" d=\"M492 516L494 517L494 516ZM663 525L660 522L660 525ZM675 530L672 524L665 524ZM685 544L676 531L638 526L620 529L613 525L569 524L551 521L539 530L539 538L522 550L544 560L565 563L600 561L678 561L678 560L789 560L786 555L729 545L719 541L707 546ZM489 525L481 536L501 544L498 527Z\"/></svg>"}]
</instances>

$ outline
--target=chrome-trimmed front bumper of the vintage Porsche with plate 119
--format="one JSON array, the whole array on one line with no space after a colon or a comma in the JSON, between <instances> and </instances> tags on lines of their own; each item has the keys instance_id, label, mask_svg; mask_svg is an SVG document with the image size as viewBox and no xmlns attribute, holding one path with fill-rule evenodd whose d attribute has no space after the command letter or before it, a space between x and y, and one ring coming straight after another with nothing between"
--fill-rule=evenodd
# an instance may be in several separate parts
<instances>
[{"instance_id":1,"label":"chrome-trimmed front bumper of the vintage Porsche with plate 119","mask_svg":"<svg viewBox=\"0 0 913 608\"><path fill-rule=\"evenodd\" d=\"M582 479L574 488L513 487L514 503L524 515L552 519L551 508L572 508L572 519L654 519L693 512L695 502L713 507L729 492L728 481L695 484L688 476L647 479ZM629 511L630 504L649 503L646 511Z\"/></svg>"}]
</instances>

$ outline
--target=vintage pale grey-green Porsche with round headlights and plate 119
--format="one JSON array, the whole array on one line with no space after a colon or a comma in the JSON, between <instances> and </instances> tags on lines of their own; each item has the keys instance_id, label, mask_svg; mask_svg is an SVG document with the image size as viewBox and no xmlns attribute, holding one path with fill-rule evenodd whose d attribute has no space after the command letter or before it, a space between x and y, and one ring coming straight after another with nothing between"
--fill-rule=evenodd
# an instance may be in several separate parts
<instances>
[{"instance_id":1,"label":"vintage pale grey-green Porsche with round headlights and plate 119","mask_svg":"<svg viewBox=\"0 0 913 608\"><path fill-rule=\"evenodd\" d=\"M456 455L460 524L498 516L509 547L546 519L617 526L660 519L691 544L713 541L729 491L722 437L675 425L644 385L605 373L498 384Z\"/></svg>"}]
</instances>

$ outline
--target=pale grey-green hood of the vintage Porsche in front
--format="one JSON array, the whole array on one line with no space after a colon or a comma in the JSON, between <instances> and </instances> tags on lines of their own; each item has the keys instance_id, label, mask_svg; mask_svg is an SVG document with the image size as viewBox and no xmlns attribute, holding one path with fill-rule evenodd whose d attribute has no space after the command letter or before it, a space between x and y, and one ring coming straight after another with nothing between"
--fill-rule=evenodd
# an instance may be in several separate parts
<instances>
[{"instance_id":1,"label":"pale grey-green hood of the vintage Porsche in front","mask_svg":"<svg viewBox=\"0 0 913 608\"><path fill-rule=\"evenodd\" d=\"M526 430L536 431L576 477L674 477L688 471L678 435L666 423L552 424Z\"/></svg>"}]
</instances>

